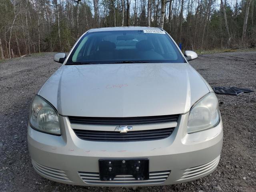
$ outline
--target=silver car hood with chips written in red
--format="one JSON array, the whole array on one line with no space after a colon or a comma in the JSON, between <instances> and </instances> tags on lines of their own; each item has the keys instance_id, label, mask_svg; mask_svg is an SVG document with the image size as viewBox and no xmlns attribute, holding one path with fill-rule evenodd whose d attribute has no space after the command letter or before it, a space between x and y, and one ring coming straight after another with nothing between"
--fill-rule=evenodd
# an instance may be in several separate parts
<instances>
[{"instance_id":1,"label":"silver car hood with chips written in red","mask_svg":"<svg viewBox=\"0 0 256 192\"><path fill-rule=\"evenodd\" d=\"M209 92L187 63L63 65L40 96L61 115L135 117L182 114Z\"/></svg>"}]
</instances>

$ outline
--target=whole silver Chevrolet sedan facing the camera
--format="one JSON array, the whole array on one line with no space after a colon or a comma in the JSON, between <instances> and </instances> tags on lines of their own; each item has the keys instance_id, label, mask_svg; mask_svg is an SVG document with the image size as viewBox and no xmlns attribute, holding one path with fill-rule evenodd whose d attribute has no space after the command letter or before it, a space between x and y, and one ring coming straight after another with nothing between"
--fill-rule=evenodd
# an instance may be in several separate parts
<instances>
[{"instance_id":1,"label":"whole silver Chevrolet sedan facing the camera","mask_svg":"<svg viewBox=\"0 0 256 192\"><path fill-rule=\"evenodd\" d=\"M91 29L34 97L34 169L84 186L170 185L214 171L222 149L218 100L160 28Z\"/></svg>"}]
</instances>

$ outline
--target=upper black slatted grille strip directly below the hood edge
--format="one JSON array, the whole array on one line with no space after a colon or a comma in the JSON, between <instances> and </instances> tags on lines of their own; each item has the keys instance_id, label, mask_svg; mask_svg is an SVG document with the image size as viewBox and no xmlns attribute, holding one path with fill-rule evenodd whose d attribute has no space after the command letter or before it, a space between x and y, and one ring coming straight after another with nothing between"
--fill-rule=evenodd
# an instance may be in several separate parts
<instances>
[{"instance_id":1,"label":"upper black slatted grille strip directly below the hood edge","mask_svg":"<svg viewBox=\"0 0 256 192\"><path fill-rule=\"evenodd\" d=\"M70 123L89 125L142 125L177 122L179 115L146 117L76 117L69 116Z\"/></svg>"}]
</instances>

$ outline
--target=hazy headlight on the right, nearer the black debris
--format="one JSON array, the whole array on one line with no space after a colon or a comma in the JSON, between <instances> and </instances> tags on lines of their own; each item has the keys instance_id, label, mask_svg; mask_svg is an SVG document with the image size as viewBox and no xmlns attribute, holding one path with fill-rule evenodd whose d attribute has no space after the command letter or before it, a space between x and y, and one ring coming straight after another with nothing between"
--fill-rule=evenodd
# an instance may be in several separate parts
<instances>
[{"instance_id":1,"label":"hazy headlight on the right, nearer the black debris","mask_svg":"<svg viewBox=\"0 0 256 192\"><path fill-rule=\"evenodd\" d=\"M188 116L188 133L210 129L220 121L220 110L216 95L211 92L199 100Z\"/></svg>"}]
</instances>

